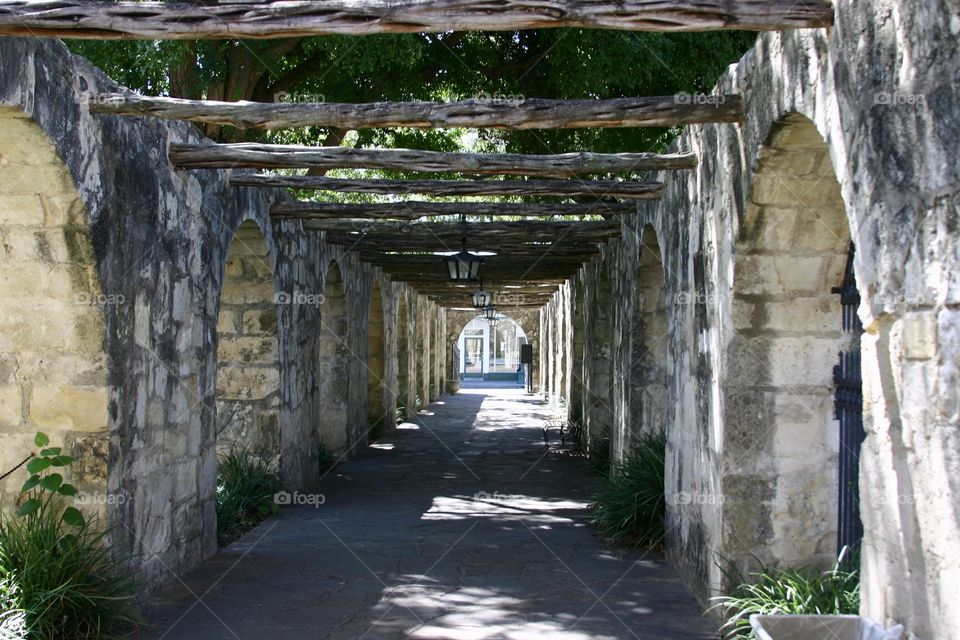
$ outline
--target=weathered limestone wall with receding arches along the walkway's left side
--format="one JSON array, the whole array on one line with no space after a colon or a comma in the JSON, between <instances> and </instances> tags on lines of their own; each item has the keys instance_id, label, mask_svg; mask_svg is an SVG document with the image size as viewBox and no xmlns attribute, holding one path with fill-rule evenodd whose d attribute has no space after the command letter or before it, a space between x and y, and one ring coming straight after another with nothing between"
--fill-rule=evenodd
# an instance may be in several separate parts
<instances>
[{"instance_id":1,"label":"weathered limestone wall with receding arches along the walkway's left side","mask_svg":"<svg viewBox=\"0 0 960 640\"><path fill-rule=\"evenodd\" d=\"M62 43L0 39L0 465L19 462L39 428L66 446L77 456L71 480L106 502L111 545L132 554L149 587L215 550L228 400L250 408L241 431L277 424L288 489L316 484L331 260L351 296L347 345L357 356L347 363L345 440L362 444L373 281L391 293L388 389L397 388L402 285L328 248L321 232L272 222L285 194L230 188L223 171L174 171L167 146L203 142L194 127L89 113L90 96L119 90ZM230 249L245 221L239 237L256 225L263 244L238 258ZM238 275L246 292L230 284ZM218 383L218 346L220 371L249 370L239 386ZM23 479L2 487L5 504Z\"/></svg>"}]
</instances>

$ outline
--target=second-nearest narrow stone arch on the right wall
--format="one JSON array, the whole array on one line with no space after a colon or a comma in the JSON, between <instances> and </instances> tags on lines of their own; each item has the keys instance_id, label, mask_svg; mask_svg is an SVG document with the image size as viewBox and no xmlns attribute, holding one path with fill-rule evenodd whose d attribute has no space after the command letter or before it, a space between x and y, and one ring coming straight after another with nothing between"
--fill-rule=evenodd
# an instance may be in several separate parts
<instances>
[{"instance_id":1,"label":"second-nearest narrow stone arch on the right wall","mask_svg":"<svg viewBox=\"0 0 960 640\"><path fill-rule=\"evenodd\" d=\"M630 332L630 416L624 450L643 433L666 431L667 307L663 259L657 232L651 225L640 232Z\"/></svg>"}]
</instances>

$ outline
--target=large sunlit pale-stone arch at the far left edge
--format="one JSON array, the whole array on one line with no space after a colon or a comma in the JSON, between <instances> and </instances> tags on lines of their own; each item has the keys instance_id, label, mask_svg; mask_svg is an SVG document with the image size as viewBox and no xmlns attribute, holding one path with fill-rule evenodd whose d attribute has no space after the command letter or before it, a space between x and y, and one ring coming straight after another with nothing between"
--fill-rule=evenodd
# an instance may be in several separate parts
<instances>
[{"instance_id":1,"label":"large sunlit pale-stone arch at the far left edge","mask_svg":"<svg viewBox=\"0 0 960 640\"><path fill-rule=\"evenodd\" d=\"M86 208L53 143L26 114L2 107L0 240L0 470L34 452L42 431L76 459L61 471L66 480L104 496L104 313L133 300L101 288ZM0 506L13 505L25 479L0 480Z\"/></svg>"}]
</instances>

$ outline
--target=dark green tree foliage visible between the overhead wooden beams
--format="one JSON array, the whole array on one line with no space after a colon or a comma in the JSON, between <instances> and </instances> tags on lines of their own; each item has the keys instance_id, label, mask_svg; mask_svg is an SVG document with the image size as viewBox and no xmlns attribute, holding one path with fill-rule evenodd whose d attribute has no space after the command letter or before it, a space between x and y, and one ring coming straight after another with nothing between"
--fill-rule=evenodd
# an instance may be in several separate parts
<instances>
[{"instance_id":1,"label":"dark green tree foliage visible between the overhead wooden beams","mask_svg":"<svg viewBox=\"0 0 960 640\"><path fill-rule=\"evenodd\" d=\"M278 41L68 41L121 84L184 98L328 102L472 97L617 98L708 92L753 45L753 33L631 33L532 29L324 36ZM273 133L208 128L221 139L320 144L318 127ZM455 150L461 131L368 129L356 146ZM481 133L478 150L517 153L659 151L676 131L657 128Z\"/></svg>"}]
</instances>

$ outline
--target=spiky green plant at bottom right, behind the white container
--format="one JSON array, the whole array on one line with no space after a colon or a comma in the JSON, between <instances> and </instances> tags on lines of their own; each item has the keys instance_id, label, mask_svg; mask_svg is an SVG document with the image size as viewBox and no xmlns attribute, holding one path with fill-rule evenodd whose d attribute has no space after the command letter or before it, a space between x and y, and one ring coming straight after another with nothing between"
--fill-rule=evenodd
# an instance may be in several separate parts
<instances>
[{"instance_id":1,"label":"spiky green plant at bottom right, behind the white container","mask_svg":"<svg viewBox=\"0 0 960 640\"><path fill-rule=\"evenodd\" d=\"M860 573L845 563L841 552L837 563L828 571L815 569L777 569L763 566L751 573L752 580L742 575L732 593L713 598L711 610L719 610L726 618L721 632L726 640L753 638L750 614L857 614L860 611ZM727 571L728 578L731 572Z\"/></svg>"}]
</instances>

